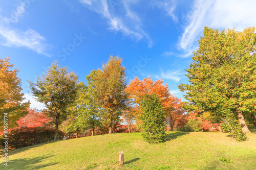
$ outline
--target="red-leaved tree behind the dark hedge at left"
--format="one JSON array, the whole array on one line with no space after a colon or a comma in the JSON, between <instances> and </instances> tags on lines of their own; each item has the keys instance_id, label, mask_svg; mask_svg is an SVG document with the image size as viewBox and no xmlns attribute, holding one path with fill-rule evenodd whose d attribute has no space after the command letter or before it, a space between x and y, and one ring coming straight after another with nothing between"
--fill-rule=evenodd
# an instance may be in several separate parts
<instances>
[{"instance_id":1,"label":"red-leaved tree behind the dark hedge at left","mask_svg":"<svg viewBox=\"0 0 256 170\"><path fill-rule=\"evenodd\" d=\"M19 127L34 128L34 127L46 127L52 122L52 117L47 116L47 110L37 110L36 108L27 108L28 114L24 117L20 117L17 120Z\"/></svg>"}]
</instances>

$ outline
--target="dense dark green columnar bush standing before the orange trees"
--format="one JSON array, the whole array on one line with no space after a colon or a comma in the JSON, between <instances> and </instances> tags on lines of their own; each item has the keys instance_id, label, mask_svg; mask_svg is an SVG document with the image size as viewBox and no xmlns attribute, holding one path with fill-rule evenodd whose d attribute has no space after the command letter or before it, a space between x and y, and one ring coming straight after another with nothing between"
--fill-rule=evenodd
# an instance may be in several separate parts
<instances>
[{"instance_id":1,"label":"dense dark green columnar bush standing before the orange trees","mask_svg":"<svg viewBox=\"0 0 256 170\"><path fill-rule=\"evenodd\" d=\"M156 94L145 94L141 101L142 136L149 143L163 142L165 139L164 113Z\"/></svg>"}]
</instances>

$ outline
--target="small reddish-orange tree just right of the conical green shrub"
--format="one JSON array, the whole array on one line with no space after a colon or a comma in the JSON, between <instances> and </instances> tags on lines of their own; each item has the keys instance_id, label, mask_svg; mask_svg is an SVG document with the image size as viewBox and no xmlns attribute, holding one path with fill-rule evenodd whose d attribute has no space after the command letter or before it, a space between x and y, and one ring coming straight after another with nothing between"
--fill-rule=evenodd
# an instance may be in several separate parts
<instances>
[{"instance_id":1,"label":"small reddish-orange tree just right of the conical green shrub","mask_svg":"<svg viewBox=\"0 0 256 170\"><path fill-rule=\"evenodd\" d=\"M165 114L165 122L169 126L170 130L178 124L178 119L183 116L185 110L181 107L181 99L175 98L174 108L169 110Z\"/></svg>"}]
</instances>

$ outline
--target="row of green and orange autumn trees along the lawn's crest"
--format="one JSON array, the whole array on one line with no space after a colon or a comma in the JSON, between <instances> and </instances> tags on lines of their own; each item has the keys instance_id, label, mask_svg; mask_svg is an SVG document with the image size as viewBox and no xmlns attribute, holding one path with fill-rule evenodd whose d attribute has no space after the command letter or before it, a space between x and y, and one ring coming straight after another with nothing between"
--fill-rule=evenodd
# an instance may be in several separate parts
<instances>
[{"instance_id":1,"label":"row of green and orange autumn trees along the lawn's crest","mask_svg":"<svg viewBox=\"0 0 256 170\"><path fill-rule=\"evenodd\" d=\"M201 117L207 113L219 131L220 125L224 124L226 131L245 139L243 135L250 133L248 120L256 126L254 32L254 27L241 32L205 27L199 49L186 69L189 84L178 86L186 92L184 98L188 102L181 102L170 94L167 84L164 85L161 79L153 82L151 77L143 80L135 77L127 85L125 67L119 56L110 56L101 68L92 70L86 77L86 84L79 82L78 76L69 72L68 67L60 68L57 62L52 63L37 82L29 82L31 92L38 102L46 105L48 111L45 114L54 124L55 140L59 127L65 132L91 130L94 135L95 130L97 134L98 131L106 133L107 128L108 133L113 133L121 119L129 132L134 123L137 129L141 129L142 99L153 94L161 103L165 126L170 130L177 126L178 120L182 122L188 116L186 113L196 113ZM0 118L4 113L10 113L9 122L14 126L28 113L29 102L21 103L24 94L16 76L18 70L12 69L9 60L0 59ZM195 121L189 122L193 123Z\"/></svg>"}]
</instances>

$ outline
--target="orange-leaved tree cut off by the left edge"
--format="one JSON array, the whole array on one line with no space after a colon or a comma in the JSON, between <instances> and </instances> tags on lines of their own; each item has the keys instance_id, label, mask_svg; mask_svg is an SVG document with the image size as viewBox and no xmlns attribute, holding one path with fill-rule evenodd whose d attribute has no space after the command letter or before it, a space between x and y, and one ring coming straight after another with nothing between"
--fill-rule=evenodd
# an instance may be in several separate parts
<instances>
[{"instance_id":1,"label":"orange-leaved tree cut off by the left edge","mask_svg":"<svg viewBox=\"0 0 256 170\"><path fill-rule=\"evenodd\" d=\"M13 69L10 58L0 59L0 118L4 120L5 113L8 116L8 127L15 127L16 120L27 114L26 108L30 103L21 103L24 98L21 80L17 77L18 69ZM3 126L4 121L0 121Z\"/></svg>"}]
</instances>

